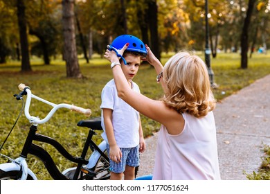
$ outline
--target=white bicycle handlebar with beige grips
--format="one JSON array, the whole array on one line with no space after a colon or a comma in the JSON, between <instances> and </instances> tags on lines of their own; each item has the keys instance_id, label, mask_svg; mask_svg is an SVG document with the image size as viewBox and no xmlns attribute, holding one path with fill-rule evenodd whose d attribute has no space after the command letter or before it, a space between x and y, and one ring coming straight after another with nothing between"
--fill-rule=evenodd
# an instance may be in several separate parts
<instances>
[{"instance_id":1,"label":"white bicycle handlebar with beige grips","mask_svg":"<svg viewBox=\"0 0 270 194\"><path fill-rule=\"evenodd\" d=\"M19 90L21 90L22 92L20 95L15 95L17 97L17 100L19 100L19 98L21 96L27 95L26 106L24 108L24 114L26 115L26 118L28 118L30 123L36 123L36 124L46 123L53 116L53 114L56 112L56 110L60 109L60 108L71 109L73 111L80 112L80 113L85 114L87 116L91 115L91 109L84 109L82 107L78 107L75 105L69 105L69 104L65 104L65 103L56 105L54 103L49 102L48 100L44 100L43 98L35 96L30 91L30 87L28 87L24 84L20 84L18 87L19 87ZM39 117L30 116L29 107L30 107L31 98L35 98L35 99L42 101L43 103L46 103L47 105L51 105L53 107L53 109L51 109L51 111L47 114L47 116L44 119L41 120L41 119L39 119Z\"/></svg>"}]
</instances>

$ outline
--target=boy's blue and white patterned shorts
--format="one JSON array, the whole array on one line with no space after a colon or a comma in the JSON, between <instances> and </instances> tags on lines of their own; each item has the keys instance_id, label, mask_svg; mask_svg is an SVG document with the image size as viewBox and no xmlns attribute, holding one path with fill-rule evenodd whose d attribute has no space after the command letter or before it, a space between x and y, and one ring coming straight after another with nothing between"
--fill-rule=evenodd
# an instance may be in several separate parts
<instances>
[{"instance_id":1,"label":"boy's blue and white patterned shorts","mask_svg":"<svg viewBox=\"0 0 270 194\"><path fill-rule=\"evenodd\" d=\"M109 144L107 144L107 152L109 155ZM138 145L134 148L120 148L122 152L122 158L119 163L116 163L109 159L110 170L113 173L123 173L125 166L136 167L140 164L140 157L138 152Z\"/></svg>"}]
</instances>

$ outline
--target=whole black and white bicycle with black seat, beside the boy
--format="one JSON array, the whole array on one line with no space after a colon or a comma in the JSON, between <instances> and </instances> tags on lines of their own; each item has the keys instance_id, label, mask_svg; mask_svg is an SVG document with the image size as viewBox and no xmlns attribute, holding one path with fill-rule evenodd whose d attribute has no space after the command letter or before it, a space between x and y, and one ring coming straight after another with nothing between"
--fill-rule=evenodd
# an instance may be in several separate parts
<instances>
[{"instance_id":1,"label":"whole black and white bicycle with black seat, beside the boy","mask_svg":"<svg viewBox=\"0 0 270 194\"><path fill-rule=\"evenodd\" d=\"M39 124L44 124L47 121L49 121L49 119L53 116L53 114L55 114L57 109L60 109L60 108L71 109L76 112L86 114L87 116L91 115L91 110L84 109L82 107L77 107L75 105L69 105L66 103L62 103L62 104L51 103L48 100L44 100L43 98L40 98L32 94L32 92L30 91L30 88L24 84L20 84L19 89L21 90L21 92L19 94L15 94L14 96L16 97L17 100L23 101L21 110L24 109L26 118L28 118L28 120L32 124L30 125L30 129L28 131L28 135L26 137L24 146L21 150L21 154L17 159L11 159L10 157L6 155L0 154L1 157L6 157L9 161L11 161L5 164L0 164L0 179L1 180L4 180L4 179L20 179L20 180L33 179L35 180L37 179L35 173L33 173L33 171L28 168L28 165L26 162L28 154L34 155L38 157L39 159L41 159L46 167L46 170L48 170L48 173L51 175L53 179L62 179L62 180L90 179L92 180L92 179L109 179L110 178L109 157L107 156L106 142L103 140L99 145L96 145L96 143L92 140L93 135L96 135L95 130L102 130L100 118L78 122L77 125L79 127L88 127L89 133L84 143L84 146L82 148L80 157L75 157L69 154L69 152L63 147L63 145L61 145L55 139L52 139L49 136L44 136L42 134L37 133L37 126ZM25 107L24 107L23 96L27 96ZM31 116L29 114L29 107L30 107L30 102L32 98L35 98L39 101L42 101L42 103L46 103L47 105L51 105L53 107L51 111L48 112L48 114L43 119L40 119L38 116ZM16 123L17 121L15 122L15 124ZM61 173L60 170L57 168L55 162L53 161L53 158L51 157L51 155L49 155L48 152L44 150L44 148L33 143L33 141L48 143L48 144L53 145L53 147L56 148L56 150L60 152L60 154L63 157L65 157L69 161L74 162L75 164L77 164L77 166L73 168L68 168ZM4 141L4 143L5 142L6 141ZM1 148L3 147L3 144ZM89 150L89 148L91 149L92 153L89 159L86 159L85 157L87 155L87 151Z\"/></svg>"}]
</instances>

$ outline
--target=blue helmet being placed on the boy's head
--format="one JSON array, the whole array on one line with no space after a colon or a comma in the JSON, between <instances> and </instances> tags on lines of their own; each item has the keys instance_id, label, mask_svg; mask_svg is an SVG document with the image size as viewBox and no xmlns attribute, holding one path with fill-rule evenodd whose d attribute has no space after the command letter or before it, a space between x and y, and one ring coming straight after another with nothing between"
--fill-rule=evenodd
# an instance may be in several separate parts
<instances>
[{"instance_id":1,"label":"blue helmet being placed on the boy's head","mask_svg":"<svg viewBox=\"0 0 270 194\"><path fill-rule=\"evenodd\" d=\"M145 44L133 35L120 35L114 39L111 43L111 46L116 49L121 49L125 44L129 43L126 51L134 51L141 53L142 55L147 55L147 50L145 48Z\"/></svg>"}]
</instances>

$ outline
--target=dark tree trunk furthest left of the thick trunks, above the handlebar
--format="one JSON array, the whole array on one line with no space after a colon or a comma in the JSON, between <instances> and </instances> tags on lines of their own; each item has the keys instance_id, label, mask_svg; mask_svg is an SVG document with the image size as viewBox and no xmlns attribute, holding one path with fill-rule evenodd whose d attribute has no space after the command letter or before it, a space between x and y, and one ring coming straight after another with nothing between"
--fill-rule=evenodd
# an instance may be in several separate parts
<instances>
[{"instance_id":1,"label":"dark tree trunk furthest left of the thick trunks, above the handlebar","mask_svg":"<svg viewBox=\"0 0 270 194\"><path fill-rule=\"evenodd\" d=\"M17 0L17 17L19 25L19 38L21 43L21 71L32 71L28 51L24 0Z\"/></svg>"}]
</instances>

